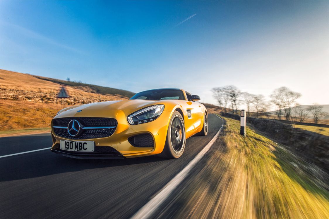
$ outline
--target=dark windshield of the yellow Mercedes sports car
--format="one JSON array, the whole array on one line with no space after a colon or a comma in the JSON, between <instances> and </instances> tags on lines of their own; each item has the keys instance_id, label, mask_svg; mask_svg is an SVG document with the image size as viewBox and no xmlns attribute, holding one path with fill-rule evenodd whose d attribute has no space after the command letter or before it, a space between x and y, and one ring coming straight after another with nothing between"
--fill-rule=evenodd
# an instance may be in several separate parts
<instances>
[{"instance_id":1,"label":"dark windshield of the yellow Mercedes sports car","mask_svg":"<svg viewBox=\"0 0 329 219\"><path fill-rule=\"evenodd\" d=\"M130 99L164 100L180 99L185 100L184 93L181 90L149 90L135 94Z\"/></svg>"}]
</instances>

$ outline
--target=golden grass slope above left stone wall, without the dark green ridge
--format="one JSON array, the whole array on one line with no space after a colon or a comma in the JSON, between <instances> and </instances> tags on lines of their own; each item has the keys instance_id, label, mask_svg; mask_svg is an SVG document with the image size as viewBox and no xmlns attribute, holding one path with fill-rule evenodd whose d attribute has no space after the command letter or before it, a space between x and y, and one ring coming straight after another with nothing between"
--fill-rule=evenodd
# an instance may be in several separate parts
<instances>
[{"instance_id":1,"label":"golden grass slope above left stone wall, without the dark green ridge","mask_svg":"<svg viewBox=\"0 0 329 219\"><path fill-rule=\"evenodd\" d=\"M70 96L80 98L93 98L103 100L121 100L127 99L127 97L121 97L121 95L111 94L96 94L90 93L90 88L77 86L65 86ZM0 69L0 88L32 91L38 93L58 94L62 85L54 83L48 80L42 80L33 75L17 73L12 71L6 71Z\"/></svg>"}]
</instances>

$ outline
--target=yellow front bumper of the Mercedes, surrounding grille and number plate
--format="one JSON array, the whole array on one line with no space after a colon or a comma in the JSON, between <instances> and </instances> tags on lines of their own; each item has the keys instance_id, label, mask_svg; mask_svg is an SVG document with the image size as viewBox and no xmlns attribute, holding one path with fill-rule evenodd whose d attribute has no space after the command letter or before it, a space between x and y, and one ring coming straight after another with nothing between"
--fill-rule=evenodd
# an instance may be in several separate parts
<instances>
[{"instance_id":1,"label":"yellow front bumper of the Mercedes, surrounding grille and number plate","mask_svg":"<svg viewBox=\"0 0 329 219\"><path fill-rule=\"evenodd\" d=\"M88 110L82 111L80 113L63 112L55 118L61 117L108 117L115 118L118 122L116 130L113 135L105 138L94 138L94 139L66 139L54 134L54 129L52 128L51 134L53 139L53 146L51 151L54 153L62 154L63 156L73 157L73 158L85 158L85 159L120 159L120 158L130 158L130 157L140 157L159 154L162 152L165 144L165 139L168 130L169 118L171 117L171 112L163 111L161 116L154 121L130 125L127 122L127 116L131 111L126 110L115 110L107 111L106 115L102 112L89 112ZM96 114L96 115L95 115ZM154 140L153 147L135 147L129 141L128 138L139 135L139 134L151 134ZM99 146L108 146L113 148L118 154L94 154L88 152L80 152L77 154L72 151L63 151L60 149L60 141L93 141L95 148Z\"/></svg>"}]
</instances>

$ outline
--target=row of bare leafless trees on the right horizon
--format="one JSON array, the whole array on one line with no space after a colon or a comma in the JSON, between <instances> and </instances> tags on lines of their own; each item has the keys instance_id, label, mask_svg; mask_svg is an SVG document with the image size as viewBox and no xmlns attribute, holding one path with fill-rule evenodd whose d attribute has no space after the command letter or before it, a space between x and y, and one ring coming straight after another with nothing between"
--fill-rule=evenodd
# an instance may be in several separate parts
<instances>
[{"instance_id":1,"label":"row of bare leafless trees on the right horizon","mask_svg":"<svg viewBox=\"0 0 329 219\"><path fill-rule=\"evenodd\" d=\"M304 122L309 115L312 116L314 123L318 123L327 115L323 111L323 106L314 103L308 108L303 108L298 104L297 100L302 96L298 92L291 91L287 87L275 89L269 96L270 100L266 101L264 95L255 95L248 92L241 92L236 86L229 85L223 87L214 87L211 89L213 97L216 99L219 107L230 109L232 113L238 113L240 105L246 105L247 116L253 115L256 117L266 116L268 119L271 116L269 108L274 106L276 117L281 120L296 120ZM292 114L294 111L294 115Z\"/></svg>"}]
</instances>

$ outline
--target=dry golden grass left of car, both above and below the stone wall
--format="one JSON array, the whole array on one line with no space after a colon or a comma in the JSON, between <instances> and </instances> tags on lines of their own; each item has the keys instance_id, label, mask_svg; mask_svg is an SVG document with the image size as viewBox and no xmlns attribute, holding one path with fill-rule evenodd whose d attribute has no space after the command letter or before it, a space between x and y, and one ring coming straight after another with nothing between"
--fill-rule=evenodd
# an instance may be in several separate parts
<instances>
[{"instance_id":1,"label":"dry golden grass left of car, both above and below the stone wall","mask_svg":"<svg viewBox=\"0 0 329 219\"><path fill-rule=\"evenodd\" d=\"M0 88L47 94L52 92L57 95L61 87L62 85L58 83L39 79L33 75L0 70ZM66 86L66 89L74 99L89 98L102 99L102 101L127 99L121 95L90 93L92 90L86 86ZM60 104L1 99L0 136L45 132L46 128L50 127L51 119L65 107L67 106Z\"/></svg>"}]
</instances>

